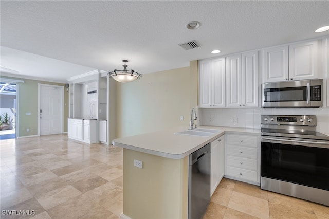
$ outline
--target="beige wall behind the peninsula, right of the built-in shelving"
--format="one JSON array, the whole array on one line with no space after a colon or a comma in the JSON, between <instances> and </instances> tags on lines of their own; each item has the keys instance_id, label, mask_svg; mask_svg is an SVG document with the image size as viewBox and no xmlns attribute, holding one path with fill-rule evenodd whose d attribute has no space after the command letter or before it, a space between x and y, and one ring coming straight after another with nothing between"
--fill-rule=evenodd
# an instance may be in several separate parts
<instances>
[{"instance_id":1,"label":"beige wall behind the peninsula, right of the built-in shelving","mask_svg":"<svg viewBox=\"0 0 329 219\"><path fill-rule=\"evenodd\" d=\"M184 125L197 107L197 61L190 67L143 75L132 83L117 83L117 137ZM180 121L184 116L184 121Z\"/></svg>"}]
</instances>

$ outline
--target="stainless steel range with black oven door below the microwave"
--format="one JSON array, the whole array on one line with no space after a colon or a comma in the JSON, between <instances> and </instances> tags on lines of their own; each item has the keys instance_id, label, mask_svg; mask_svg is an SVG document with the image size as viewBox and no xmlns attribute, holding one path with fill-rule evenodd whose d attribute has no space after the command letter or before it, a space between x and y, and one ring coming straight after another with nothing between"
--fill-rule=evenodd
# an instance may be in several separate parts
<instances>
[{"instance_id":1,"label":"stainless steel range with black oven door below the microwave","mask_svg":"<svg viewBox=\"0 0 329 219\"><path fill-rule=\"evenodd\" d=\"M316 125L316 116L262 115L262 189L329 206L329 136Z\"/></svg>"}]
</instances>

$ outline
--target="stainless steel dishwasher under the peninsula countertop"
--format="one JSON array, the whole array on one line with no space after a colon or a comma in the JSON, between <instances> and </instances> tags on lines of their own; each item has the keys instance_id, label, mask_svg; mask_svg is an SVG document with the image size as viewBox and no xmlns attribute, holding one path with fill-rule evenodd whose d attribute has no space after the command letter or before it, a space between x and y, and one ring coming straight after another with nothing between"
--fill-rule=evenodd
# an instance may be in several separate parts
<instances>
[{"instance_id":1,"label":"stainless steel dishwasher under the peninsula countertop","mask_svg":"<svg viewBox=\"0 0 329 219\"><path fill-rule=\"evenodd\" d=\"M202 218L210 202L210 143L189 155L189 219Z\"/></svg>"}]
</instances>

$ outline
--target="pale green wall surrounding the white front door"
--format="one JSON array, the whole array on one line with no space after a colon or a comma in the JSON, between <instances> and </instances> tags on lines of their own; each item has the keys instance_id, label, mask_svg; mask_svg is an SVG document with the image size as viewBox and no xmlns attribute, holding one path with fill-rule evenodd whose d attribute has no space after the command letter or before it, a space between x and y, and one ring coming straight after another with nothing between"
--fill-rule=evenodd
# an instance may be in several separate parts
<instances>
[{"instance_id":1,"label":"pale green wall surrounding the white front door","mask_svg":"<svg viewBox=\"0 0 329 219\"><path fill-rule=\"evenodd\" d=\"M65 84L4 76L1 78L24 81L24 83L19 83L19 126L16 127L19 135L17 137L38 134L38 83L64 86L64 132L67 132L68 92L65 89ZM31 115L27 116L27 112ZM27 132L26 129L30 129L30 131Z\"/></svg>"}]
</instances>

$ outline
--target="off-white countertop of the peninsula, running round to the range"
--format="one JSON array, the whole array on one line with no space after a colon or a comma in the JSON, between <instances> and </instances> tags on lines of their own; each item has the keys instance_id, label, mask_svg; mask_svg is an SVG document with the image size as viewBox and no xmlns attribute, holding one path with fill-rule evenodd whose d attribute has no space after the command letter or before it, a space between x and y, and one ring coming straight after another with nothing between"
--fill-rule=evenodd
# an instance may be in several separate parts
<instances>
[{"instance_id":1,"label":"off-white countertop of the peninsula, running round to the range","mask_svg":"<svg viewBox=\"0 0 329 219\"><path fill-rule=\"evenodd\" d=\"M133 135L113 140L113 145L153 154L171 159L181 159L194 151L202 148L209 142L224 135L225 133L261 135L260 129L244 129L237 127L200 126L204 129L216 129L221 132L209 137L179 135L176 132L187 130L188 127L176 127L173 129L151 132L141 135Z\"/></svg>"}]
</instances>

